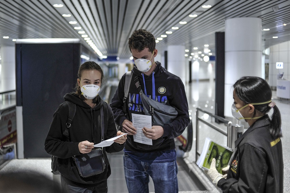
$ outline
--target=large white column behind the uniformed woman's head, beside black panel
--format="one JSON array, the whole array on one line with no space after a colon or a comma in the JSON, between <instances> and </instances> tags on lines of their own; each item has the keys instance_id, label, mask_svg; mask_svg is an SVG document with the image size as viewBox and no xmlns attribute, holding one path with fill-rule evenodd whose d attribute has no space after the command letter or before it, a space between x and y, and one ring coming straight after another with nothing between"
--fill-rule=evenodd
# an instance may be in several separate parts
<instances>
[{"instance_id":1,"label":"large white column behind the uniformed woman's head, beside black panel","mask_svg":"<svg viewBox=\"0 0 290 193\"><path fill-rule=\"evenodd\" d=\"M226 19L224 114L233 117L233 84L242 76L262 76L262 20L254 17Z\"/></svg>"}]
</instances>

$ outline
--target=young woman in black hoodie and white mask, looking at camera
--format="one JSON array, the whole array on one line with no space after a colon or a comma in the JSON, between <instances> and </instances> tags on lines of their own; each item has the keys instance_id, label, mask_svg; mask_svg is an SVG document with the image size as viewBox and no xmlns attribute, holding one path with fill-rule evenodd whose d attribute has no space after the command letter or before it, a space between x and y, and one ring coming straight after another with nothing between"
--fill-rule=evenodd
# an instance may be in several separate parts
<instances>
[{"instance_id":1,"label":"young woman in black hoodie and white mask, looking at camera","mask_svg":"<svg viewBox=\"0 0 290 193\"><path fill-rule=\"evenodd\" d=\"M103 81L103 70L95 62L85 62L78 71L74 93L68 93L64 100L76 105L76 112L69 128L69 140L63 135L68 120L68 105L62 103L53 116L45 150L57 157L58 171L61 173L63 192L107 192L107 178L111 174L106 152L119 152L124 148L126 135L114 140L116 143L103 148L106 169L90 177L81 177L77 171L73 156L91 152L94 144L101 142L102 123L104 122L104 140L119 136L116 130L112 109L98 93ZM101 120L103 109L103 120Z\"/></svg>"}]
</instances>

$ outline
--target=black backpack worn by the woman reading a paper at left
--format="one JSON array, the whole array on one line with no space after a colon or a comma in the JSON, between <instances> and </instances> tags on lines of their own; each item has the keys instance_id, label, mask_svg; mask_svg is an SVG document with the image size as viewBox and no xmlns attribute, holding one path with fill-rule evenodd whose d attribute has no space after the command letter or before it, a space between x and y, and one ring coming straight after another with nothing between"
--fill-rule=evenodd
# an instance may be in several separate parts
<instances>
[{"instance_id":1,"label":"black backpack worn by the woman reading a paper at left","mask_svg":"<svg viewBox=\"0 0 290 193\"><path fill-rule=\"evenodd\" d=\"M64 101L64 104L68 105L68 120L66 121L66 130L63 132L63 135L66 136L67 141L69 141L69 128L75 116L76 105L70 101ZM55 111L55 113L57 111L58 109ZM51 156L51 170L53 174L60 174L58 171L57 157L55 156Z\"/></svg>"}]
</instances>

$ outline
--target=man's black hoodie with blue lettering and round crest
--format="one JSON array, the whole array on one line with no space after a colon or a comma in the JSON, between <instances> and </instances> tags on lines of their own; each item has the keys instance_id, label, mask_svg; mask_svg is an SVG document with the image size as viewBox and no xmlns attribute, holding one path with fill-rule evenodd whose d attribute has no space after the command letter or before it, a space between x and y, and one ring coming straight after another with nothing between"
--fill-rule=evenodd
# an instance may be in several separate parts
<instances>
[{"instance_id":1,"label":"man's black hoodie with blue lettering and round crest","mask_svg":"<svg viewBox=\"0 0 290 193\"><path fill-rule=\"evenodd\" d=\"M157 152L162 150L171 150L175 148L175 137L182 134L186 126L189 124L188 103L186 99L184 85L179 77L168 72L163 68L160 62L156 62L157 66L154 70L155 95L156 99L166 105L175 107L178 112L177 118L166 125L163 125L164 134L161 138L152 140L153 145L136 143L133 140L133 135L128 135L125 143L126 150L135 152ZM136 88L134 79L139 77L139 83L144 91L144 83L142 74L137 68L132 70L133 76L127 97L127 117L123 112L124 84L126 74L121 78L117 91L113 96L110 106L114 112L115 121L118 125L122 125L125 119L132 121L132 113L144 114L142 101L139 97L139 92ZM152 74L146 76L144 74L145 86L147 95L152 98Z\"/></svg>"}]
</instances>

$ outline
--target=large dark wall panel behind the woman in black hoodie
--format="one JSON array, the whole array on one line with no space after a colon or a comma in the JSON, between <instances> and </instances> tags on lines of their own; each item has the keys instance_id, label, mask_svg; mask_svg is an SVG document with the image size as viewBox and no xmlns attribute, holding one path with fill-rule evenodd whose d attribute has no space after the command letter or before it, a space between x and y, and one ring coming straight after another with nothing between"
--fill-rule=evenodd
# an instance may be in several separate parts
<instances>
[{"instance_id":1,"label":"large dark wall panel behind the woman in black hoodie","mask_svg":"<svg viewBox=\"0 0 290 193\"><path fill-rule=\"evenodd\" d=\"M77 82L80 49L75 43L17 45L17 76L21 76L17 77L17 106L23 107L25 158L50 156L44 140L53 113Z\"/></svg>"}]
</instances>

